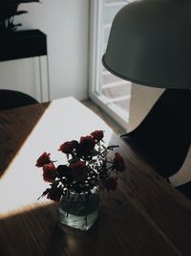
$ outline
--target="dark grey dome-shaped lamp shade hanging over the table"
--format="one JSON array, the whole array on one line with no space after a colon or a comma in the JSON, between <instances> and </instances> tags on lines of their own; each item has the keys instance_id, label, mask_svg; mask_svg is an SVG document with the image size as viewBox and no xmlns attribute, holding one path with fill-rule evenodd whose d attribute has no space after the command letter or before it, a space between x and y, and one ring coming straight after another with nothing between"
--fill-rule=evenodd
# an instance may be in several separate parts
<instances>
[{"instance_id":1,"label":"dark grey dome-shaped lamp shade hanging over the table","mask_svg":"<svg viewBox=\"0 0 191 256\"><path fill-rule=\"evenodd\" d=\"M102 62L124 80L191 88L191 1L127 4L117 12Z\"/></svg>"}]
</instances>

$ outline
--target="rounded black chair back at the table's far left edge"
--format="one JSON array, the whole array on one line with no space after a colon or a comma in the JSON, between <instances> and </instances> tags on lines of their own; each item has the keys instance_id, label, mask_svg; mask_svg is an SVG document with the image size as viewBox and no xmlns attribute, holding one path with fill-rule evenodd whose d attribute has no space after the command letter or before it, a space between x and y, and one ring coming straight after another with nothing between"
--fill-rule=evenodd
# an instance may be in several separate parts
<instances>
[{"instance_id":1,"label":"rounded black chair back at the table's far left edge","mask_svg":"<svg viewBox=\"0 0 191 256\"><path fill-rule=\"evenodd\" d=\"M38 102L23 92L0 89L0 110L37 104Z\"/></svg>"}]
</instances>

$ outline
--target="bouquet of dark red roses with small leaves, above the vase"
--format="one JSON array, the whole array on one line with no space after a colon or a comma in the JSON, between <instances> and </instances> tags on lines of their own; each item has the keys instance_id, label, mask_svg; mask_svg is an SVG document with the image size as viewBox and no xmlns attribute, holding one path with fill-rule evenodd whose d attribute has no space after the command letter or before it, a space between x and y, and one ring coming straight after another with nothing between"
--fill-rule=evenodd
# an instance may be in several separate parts
<instances>
[{"instance_id":1,"label":"bouquet of dark red roses with small leaves, above the vase","mask_svg":"<svg viewBox=\"0 0 191 256\"><path fill-rule=\"evenodd\" d=\"M43 178L50 183L50 188L41 197L60 201L61 197L70 197L71 193L90 195L95 188L115 190L117 175L124 171L125 164L118 152L113 159L107 159L108 151L118 146L106 148L103 137L103 130L95 130L81 137L79 142L64 142L58 151L65 154L67 164L55 166L51 153L43 152L36 161L36 167L42 167Z\"/></svg>"}]
</instances>

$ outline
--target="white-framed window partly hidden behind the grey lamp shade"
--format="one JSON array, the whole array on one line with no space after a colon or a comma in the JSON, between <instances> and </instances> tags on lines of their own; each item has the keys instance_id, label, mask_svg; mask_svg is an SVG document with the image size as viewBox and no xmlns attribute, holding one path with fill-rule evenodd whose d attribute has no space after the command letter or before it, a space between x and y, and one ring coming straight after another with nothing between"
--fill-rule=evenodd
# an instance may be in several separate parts
<instances>
[{"instance_id":1,"label":"white-framed window partly hidden behind the grey lamp shade","mask_svg":"<svg viewBox=\"0 0 191 256\"><path fill-rule=\"evenodd\" d=\"M127 129L131 97L131 82L108 72L101 63L110 29L117 12L130 1L92 0L91 2L91 72L90 97L117 123Z\"/></svg>"}]
</instances>

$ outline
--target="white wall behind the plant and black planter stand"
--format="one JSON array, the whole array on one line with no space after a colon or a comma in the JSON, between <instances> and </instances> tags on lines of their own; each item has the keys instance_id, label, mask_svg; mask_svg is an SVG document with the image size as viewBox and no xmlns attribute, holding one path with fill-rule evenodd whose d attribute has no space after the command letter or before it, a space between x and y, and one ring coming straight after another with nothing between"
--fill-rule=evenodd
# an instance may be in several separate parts
<instances>
[{"instance_id":1,"label":"white wall behind the plant and black planter stand","mask_svg":"<svg viewBox=\"0 0 191 256\"><path fill-rule=\"evenodd\" d=\"M39 29L48 36L51 99L88 91L89 0L43 0L20 5L29 13L17 16L22 30ZM0 62L0 87L39 95L38 59ZM39 97L38 97L39 99Z\"/></svg>"}]
</instances>

